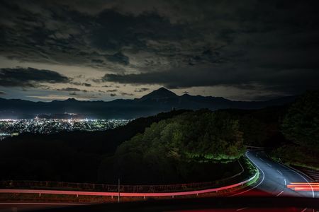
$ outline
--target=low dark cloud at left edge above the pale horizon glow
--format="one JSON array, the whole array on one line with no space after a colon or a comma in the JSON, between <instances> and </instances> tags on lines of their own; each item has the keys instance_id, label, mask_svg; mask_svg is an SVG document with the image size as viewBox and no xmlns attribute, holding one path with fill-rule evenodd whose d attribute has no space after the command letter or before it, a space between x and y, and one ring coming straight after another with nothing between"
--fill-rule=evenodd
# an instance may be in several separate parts
<instances>
[{"instance_id":1,"label":"low dark cloud at left edge above the pale horizon glow","mask_svg":"<svg viewBox=\"0 0 319 212\"><path fill-rule=\"evenodd\" d=\"M66 76L55 71L33 68L0 69L0 86L39 87L39 83L68 83Z\"/></svg>"}]
</instances>

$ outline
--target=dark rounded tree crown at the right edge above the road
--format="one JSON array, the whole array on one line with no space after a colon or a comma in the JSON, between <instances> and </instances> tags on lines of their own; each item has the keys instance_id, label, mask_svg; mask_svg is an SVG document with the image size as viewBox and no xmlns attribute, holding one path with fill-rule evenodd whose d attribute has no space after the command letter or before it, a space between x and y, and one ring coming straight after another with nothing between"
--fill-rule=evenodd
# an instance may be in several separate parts
<instances>
[{"instance_id":1,"label":"dark rounded tree crown at the right edge above the road","mask_svg":"<svg viewBox=\"0 0 319 212\"><path fill-rule=\"evenodd\" d=\"M287 139L319 149L319 90L308 91L289 108L281 124Z\"/></svg>"}]
</instances>

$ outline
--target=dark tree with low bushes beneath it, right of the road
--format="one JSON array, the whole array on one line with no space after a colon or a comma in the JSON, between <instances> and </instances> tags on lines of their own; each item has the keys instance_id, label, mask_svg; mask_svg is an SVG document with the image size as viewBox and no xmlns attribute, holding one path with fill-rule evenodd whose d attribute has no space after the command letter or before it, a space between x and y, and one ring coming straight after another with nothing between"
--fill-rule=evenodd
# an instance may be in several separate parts
<instances>
[{"instance_id":1,"label":"dark tree with low bushes beneath it, right of the road","mask_svg":"<svg viewBox=\"0 0 319 212\"><path fill-rule=\"evenodd\" d=\"M319 170L319 90L306 92L289 107L281 132L288 141L272 151L273 157Z\"/></svg>"}]
</instances>

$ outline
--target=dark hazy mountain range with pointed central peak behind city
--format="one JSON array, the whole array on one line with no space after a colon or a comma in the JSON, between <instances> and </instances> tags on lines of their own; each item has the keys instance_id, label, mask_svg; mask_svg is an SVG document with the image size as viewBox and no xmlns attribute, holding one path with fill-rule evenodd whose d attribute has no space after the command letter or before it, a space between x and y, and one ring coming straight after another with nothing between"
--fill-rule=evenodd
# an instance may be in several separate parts
<instances>
[{"instance_id":1,"label":"dark hazy mountain range with pointed central peak behind city","mask_svg":"<svg viewBox=\"0 0 319 212\"><path fill-rule=\"evenodd\" d=\"M267 101L233 101L221 97L201 95L177 95L166 88L154 90L142 98L112 101L79 101L74 98L53 100L52 102L32 102L19 99L0 98L0 118L32 118L39 114L81 114L89 118L146 117L172 109L210 110L238 108L259 109L293 102L296 96L276 98Z\"/></svg>"}]
</instances>

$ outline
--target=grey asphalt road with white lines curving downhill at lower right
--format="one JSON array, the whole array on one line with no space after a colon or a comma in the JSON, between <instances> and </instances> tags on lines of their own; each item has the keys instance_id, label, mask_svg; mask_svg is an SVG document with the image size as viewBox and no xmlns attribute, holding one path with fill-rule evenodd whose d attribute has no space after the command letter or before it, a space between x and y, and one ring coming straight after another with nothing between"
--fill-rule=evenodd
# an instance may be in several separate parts
<instances>
[{"instance_id":1,"label":"grey asphalt road with white lines curving downhill at lower right","mask_svg":"<svg viewBox=\"0 0 319 212\"><path fill-rule=\"evenodd\" d=\"M277 163L267 156L263 151L247 151L246 156L255 166L258 167L259 181L247 187L237 195L272 195L272 196L306 196L319 197L319 192L301 192L287 188L291 182L302 182L308 185L311 179L301 172L291 169L286 165ZM309 185L308 185L309 186ZM311 187L310 187L311 188Z\"/></svg>"}]
</instances>

